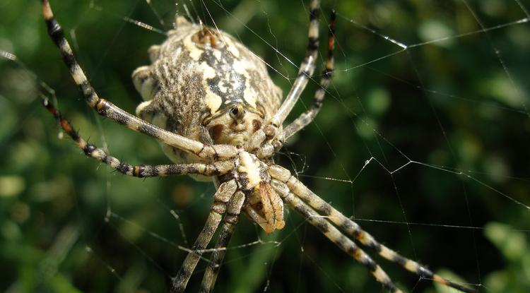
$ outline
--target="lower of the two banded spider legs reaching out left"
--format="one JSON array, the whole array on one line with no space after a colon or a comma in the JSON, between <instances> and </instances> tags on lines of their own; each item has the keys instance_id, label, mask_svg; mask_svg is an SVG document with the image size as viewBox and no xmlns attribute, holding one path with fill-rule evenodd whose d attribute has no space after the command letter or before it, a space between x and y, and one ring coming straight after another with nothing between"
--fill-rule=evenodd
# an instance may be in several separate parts
<instances>
[{"instance_id":1,"label":"lower of the two banded spider legs reaching out left","mask_svg":"<svg viewBox=\"0 0 530 293\"><path fill-rule=\"evenodd\" d=\"M47 100L42 98L42 104L48 109L48 111L57 119L61 128L72 138L76 145L83 150L83 153L88 157L93 157L100 162L103 162L112 169L118 172L133 176L133 177L163 177L167 175L185 175L185 174L201 174L204 176L217 176L230 172L235 167L234 163L228 161L218 161L212 164L204 163L192 163L192 164L170 164L170 165L130 165L126 162L121 162L116 157L109 155L98 148L97 146L88 143L84 140L79 133L74 129L70 122L61 115L53 105Z\"/></svg>"}]
</instances>

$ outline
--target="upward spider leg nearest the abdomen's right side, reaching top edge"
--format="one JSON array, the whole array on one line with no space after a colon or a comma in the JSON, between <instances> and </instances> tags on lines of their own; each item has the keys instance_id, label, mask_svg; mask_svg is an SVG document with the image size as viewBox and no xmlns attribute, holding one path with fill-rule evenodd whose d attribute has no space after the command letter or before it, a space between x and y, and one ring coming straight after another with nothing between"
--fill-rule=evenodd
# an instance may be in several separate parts
<instances>
[{"instance_id":1,"label":"upward spider leg nearest the abdomen's right side, reaching top edge","mask_svg":"<svg viewBox=\"0 0 530 293\"><path fill-rule=\"evenodd\" d=\"M307 85L307 80L314 72L314 62L317 59L318 47L319 47L319 11L320 11L320 1L312 0L310 4L310 27L309 27L309 41L307 43L307 50L305 52L305 59L300 64L300 69L298 70L298 77L293 83L293 87L290 89L287 97L281 104L278 112L273 116L271 124L273 126L279 127L285 121L288 114L291 112L295 106L296 101L302 94L302 91Z\"/></svg>"}]
</instances>

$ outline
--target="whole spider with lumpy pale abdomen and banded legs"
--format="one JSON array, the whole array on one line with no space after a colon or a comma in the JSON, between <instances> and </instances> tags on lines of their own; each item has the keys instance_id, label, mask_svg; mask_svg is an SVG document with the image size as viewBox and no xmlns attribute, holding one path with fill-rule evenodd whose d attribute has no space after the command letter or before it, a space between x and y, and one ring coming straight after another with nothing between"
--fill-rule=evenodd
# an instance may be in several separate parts
<instances>
[{"instance_id":1,"label":"whole spider with lumpy pale abdomen and banded legs","mask_svg":"<svg viewBox=\"0 0 530 293\"><path fill-rule=\"evenodd\" d=\"M283 143L318 114L331 82L334 12L329 24L326 65L311 107L283 127L314 73L319 47L319 10L319 0L312 0L305 59L285 99L264 63L235 38L178 16L175 29L167 32L167 40L149 49L151 65L141 66L132 74L134 85L145 100L136 108L134 116L98 97L54 19L49 1L42 0L49 36L90 107L127 128L159 140L175 164L135 166L121 162L81 138L46 97L42 103L88 157L122 174L133 177L188 174L199 180L213 178L216 193L206 224L172 278L171 292L186 289L201 254L220 226L218 241L201 282L201 292L211 292L226 253L223 248L228 245L240 214L246 213L266 233L273 233L285 225L284 205L300 213L339 249L365 265L389 292L401 292L401 289L356 243L422 278L461 292L473 292L380 244L298 181L288 169L274 164L273 155Z\"/></svg>"}]
</instances>

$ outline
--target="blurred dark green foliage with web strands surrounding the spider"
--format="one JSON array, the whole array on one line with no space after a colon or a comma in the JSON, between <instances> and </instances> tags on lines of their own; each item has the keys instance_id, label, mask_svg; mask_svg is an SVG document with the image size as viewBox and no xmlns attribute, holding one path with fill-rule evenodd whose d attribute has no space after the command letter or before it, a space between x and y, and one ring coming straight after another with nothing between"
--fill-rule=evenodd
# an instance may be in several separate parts
<instances>
[{"instance_id":1,"label":"blurred dark green foliage with web strands surrounding the spider","mask_svg":"<svg viewBox=\"0 0 530 293\"><path fill-rule=\"evenodd\" d=\"M141 102L130 74L148 64L146 50L163 42L175 11L237 37L284 92L307 42L307 1L55 2L96 90L129 112ZM277 161L404 256L479 292L527 292L530 3L323 2L322 44L331 8L338 16L334 80L316 121ZM86 107L37 3L1 5L13 16L0 30L0 289L165 290L204 225L213 186L127 178L50 136L57 126L40 95L57 99L82 136L119 159L168 162L155 141ZM317 73L324 50L319 58ZM316 74L289 119L307 109L318 81ZM266 235L242 216L218 292L380 290L299 215L286 217L283 231ZM454 291L366 251L401 288ZM208 254L190 291L207 262Z\"/></svg>"}]
</instances>

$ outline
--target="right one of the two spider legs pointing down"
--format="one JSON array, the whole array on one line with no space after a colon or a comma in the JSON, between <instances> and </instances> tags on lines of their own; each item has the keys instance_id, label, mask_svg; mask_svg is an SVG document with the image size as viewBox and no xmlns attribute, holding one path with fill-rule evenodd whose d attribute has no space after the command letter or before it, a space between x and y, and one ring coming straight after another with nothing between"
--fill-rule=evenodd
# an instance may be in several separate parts
<instances>
[{"instance_id":1,"label":"right one of the two spider legs pointing down","mask_svg":"<svg viewBox=\"0 0 530 293\"><path fill-rule=\"evenodd\" d=\"M234 196L232 196L232 199L226 208L223 228L220 231L219 239L216 244L216 250L213 251L210 258L210 263L206 268L206 272L204 273L200 292L211 292L213 290L213 285L216 284L219 268L221 263L223 263L223 259L225 258L228 242L230 241L232 234L234 234L235 225L237 225L237 220L239 220L241 208L244 202L245 193L242 193L242 191L237 191Z\"/></svg>"}]
</instances>

